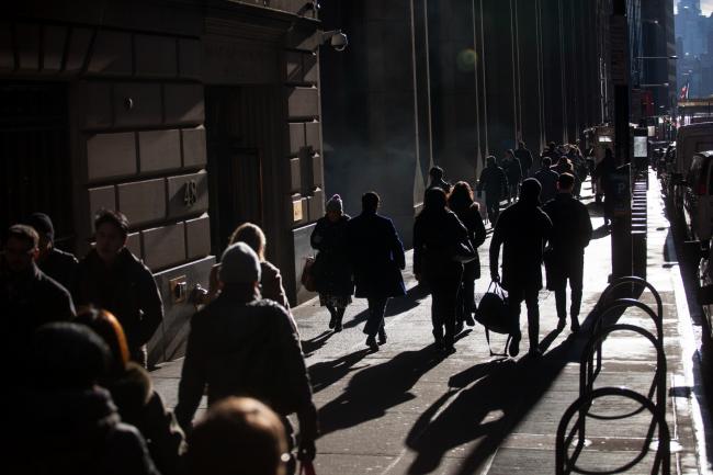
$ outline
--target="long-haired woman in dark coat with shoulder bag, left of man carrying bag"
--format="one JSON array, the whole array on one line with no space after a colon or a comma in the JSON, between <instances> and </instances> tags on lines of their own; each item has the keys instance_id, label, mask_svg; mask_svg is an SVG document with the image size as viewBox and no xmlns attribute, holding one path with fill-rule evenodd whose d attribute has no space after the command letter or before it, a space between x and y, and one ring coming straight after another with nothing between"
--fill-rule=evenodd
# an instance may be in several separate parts
<instances>
[{"instance_id":1,"label":"long-haired woman in dark coat with shoulder bag, left of man carrying bag","mask_svg":"<svg viewBox=\"0 0 713 475\"><path fill-rule=\"evenodd\" d=\"M431 290L431 323L437 347L455 351L455 319L463 264L453 259L459 242L467 242L465 226L445 207L441 189L426 191L423 210L414 223L414 273ZM473 250L473 249L471 249Z\"/></svg>"}]
</instances>

